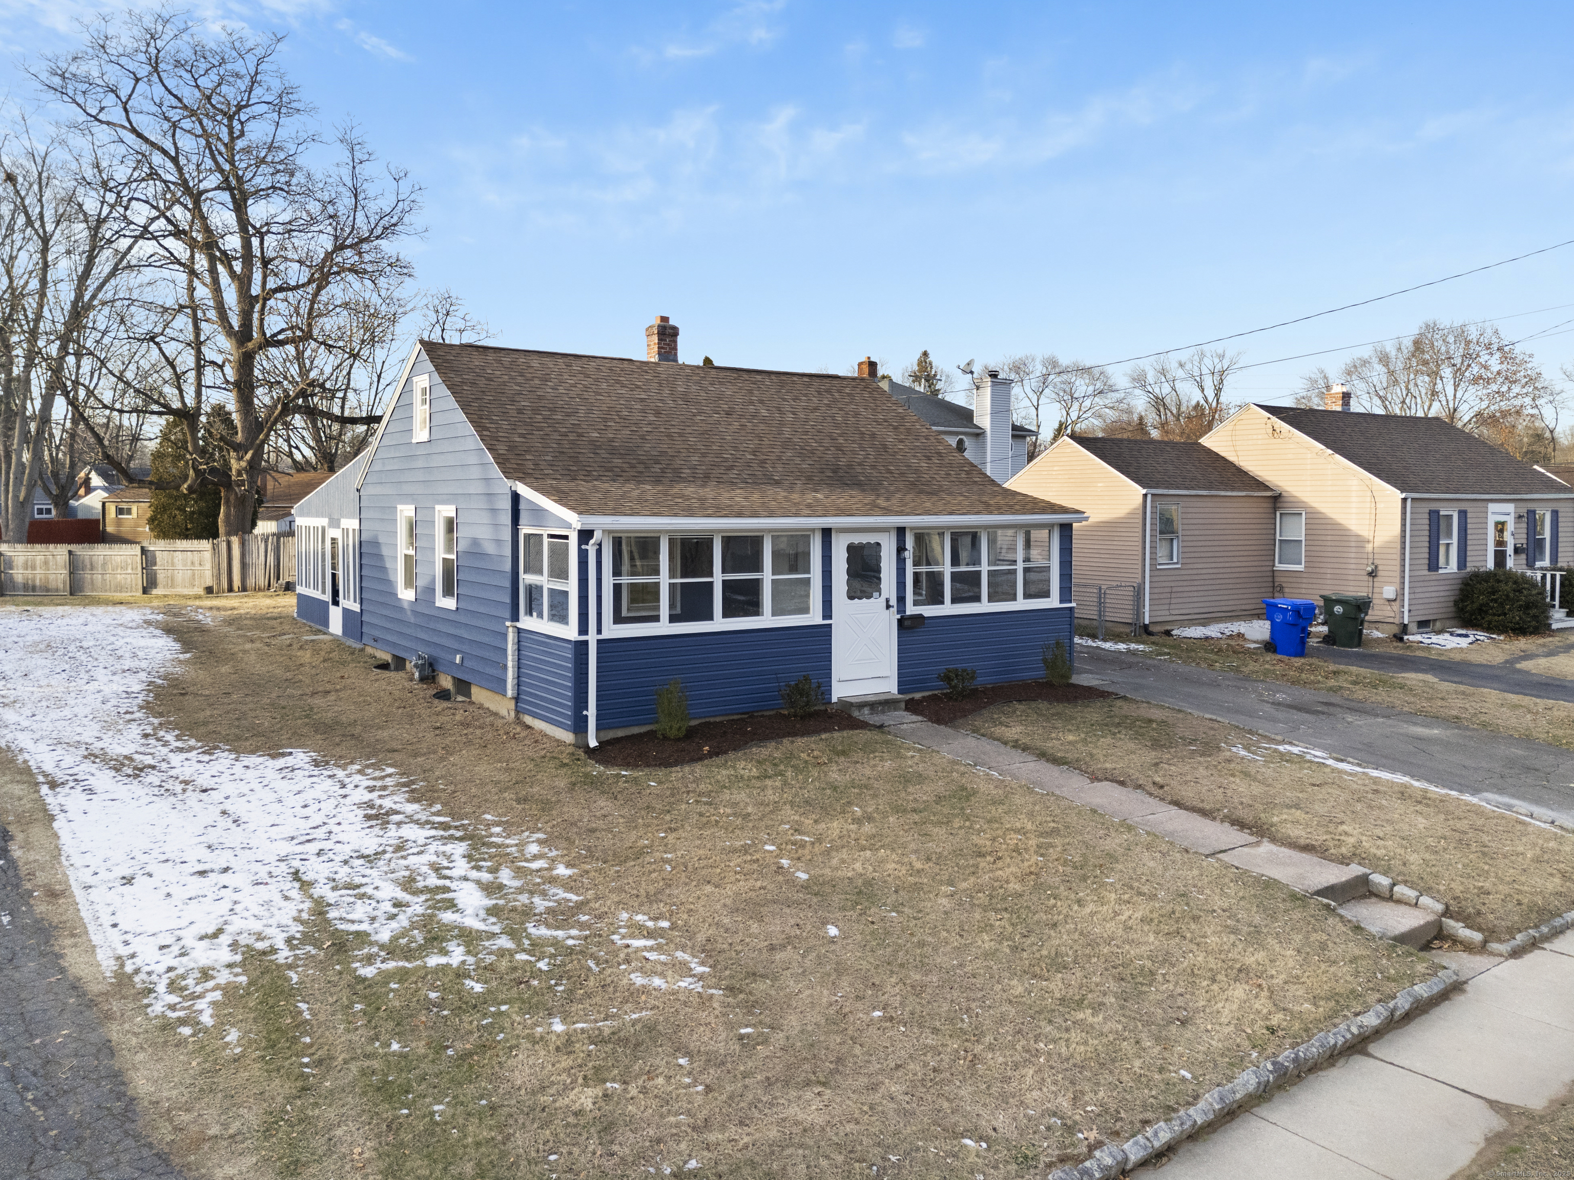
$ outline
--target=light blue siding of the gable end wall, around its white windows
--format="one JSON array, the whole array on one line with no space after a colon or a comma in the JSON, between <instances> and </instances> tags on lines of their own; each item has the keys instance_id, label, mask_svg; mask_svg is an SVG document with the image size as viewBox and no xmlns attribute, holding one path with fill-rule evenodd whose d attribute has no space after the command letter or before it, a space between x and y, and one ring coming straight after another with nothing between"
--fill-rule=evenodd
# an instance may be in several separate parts
<instances>
[{"instance_id":1,"label":"light blue siding of the gable end wall, around its white windows","mask_svg":"<svg viewBox=\"0 0 1574 1180\"><path fill-rule=\"evenodd\" d=\"M431 437L411 442L414 379L431 378ZM438 606L436 508L458 518L458 609ZM416 507L416 601L398 596L398 507ZM425 354L400 387L360 483L362 642L507 692L513 492ZM460 664L455 658L464 656Z\"/></svg>"}]
</instances>

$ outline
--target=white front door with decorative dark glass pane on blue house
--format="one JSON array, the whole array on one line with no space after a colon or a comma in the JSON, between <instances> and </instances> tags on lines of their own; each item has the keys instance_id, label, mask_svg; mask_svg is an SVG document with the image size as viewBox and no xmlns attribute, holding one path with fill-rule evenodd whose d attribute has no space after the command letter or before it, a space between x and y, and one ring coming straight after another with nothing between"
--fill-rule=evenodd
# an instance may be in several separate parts
<instances>
[{"instance_id":1,"label":"white front door with decorative dark glass pane on blue house","mask_svg":"<svg viewBox=\"0 0 1574 1180\"><path fill-rule=\"evenodd\" d=\"M896 544L891 533L837 533L831 548L834 697L896 689Z\"/></svg>"}]
</instances>

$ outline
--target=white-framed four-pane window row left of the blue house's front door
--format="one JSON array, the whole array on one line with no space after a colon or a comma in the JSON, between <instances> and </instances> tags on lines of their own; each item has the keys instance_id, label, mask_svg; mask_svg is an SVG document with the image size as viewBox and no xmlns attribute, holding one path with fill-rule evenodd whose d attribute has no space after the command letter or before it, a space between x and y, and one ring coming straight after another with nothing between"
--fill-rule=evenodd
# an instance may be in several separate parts
<instances>
[{"instance_id":1,"label":"white-framed four-pane window row left of the blue house's front door","mask_svg":"<svg viewBox=\"0 0 1574 1180\"><path fill-rule=\"evenodd\" d=\"M814 533L619 535L612 626L806 618Z\"/></svg>"}]
</instances>

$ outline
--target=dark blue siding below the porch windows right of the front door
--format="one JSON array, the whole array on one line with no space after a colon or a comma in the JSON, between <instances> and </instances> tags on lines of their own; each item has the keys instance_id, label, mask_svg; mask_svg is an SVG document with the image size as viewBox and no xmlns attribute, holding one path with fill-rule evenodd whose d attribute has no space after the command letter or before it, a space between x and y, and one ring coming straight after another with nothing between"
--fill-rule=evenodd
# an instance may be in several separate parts
<instances>
[{"instance_id":1,"label":"dark blue siding below the porch windows right of the front door","mask_svg":"<svg viewBox=\"0 0 1574 1180\"><path fill-rule=\"evenodd\" d=\"M896 632L897 692L937 692L946 667L977 669L979 684L1036 680L1044 675L1044 645L1056 639L1075 661L1069 606L929 615L916 631Z\"/></svg>"}]
</instances>

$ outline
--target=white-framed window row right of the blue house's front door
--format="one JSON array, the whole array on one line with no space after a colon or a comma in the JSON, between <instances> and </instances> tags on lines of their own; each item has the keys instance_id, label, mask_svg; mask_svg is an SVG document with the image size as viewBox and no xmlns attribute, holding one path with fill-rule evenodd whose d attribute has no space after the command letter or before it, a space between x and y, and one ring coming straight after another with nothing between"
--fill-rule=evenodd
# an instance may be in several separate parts
<instances>
[{"instance_id":1,"label":"white-framed window row right of the blue house's front door","mask_svg":"<svg viewBox=\"0 0 1574 1180\"><path fill-rule=\"evenodd\" d=\"M1053 529L914 530L908 607L1055 599Z\"/></svg>"}]
</instances>

